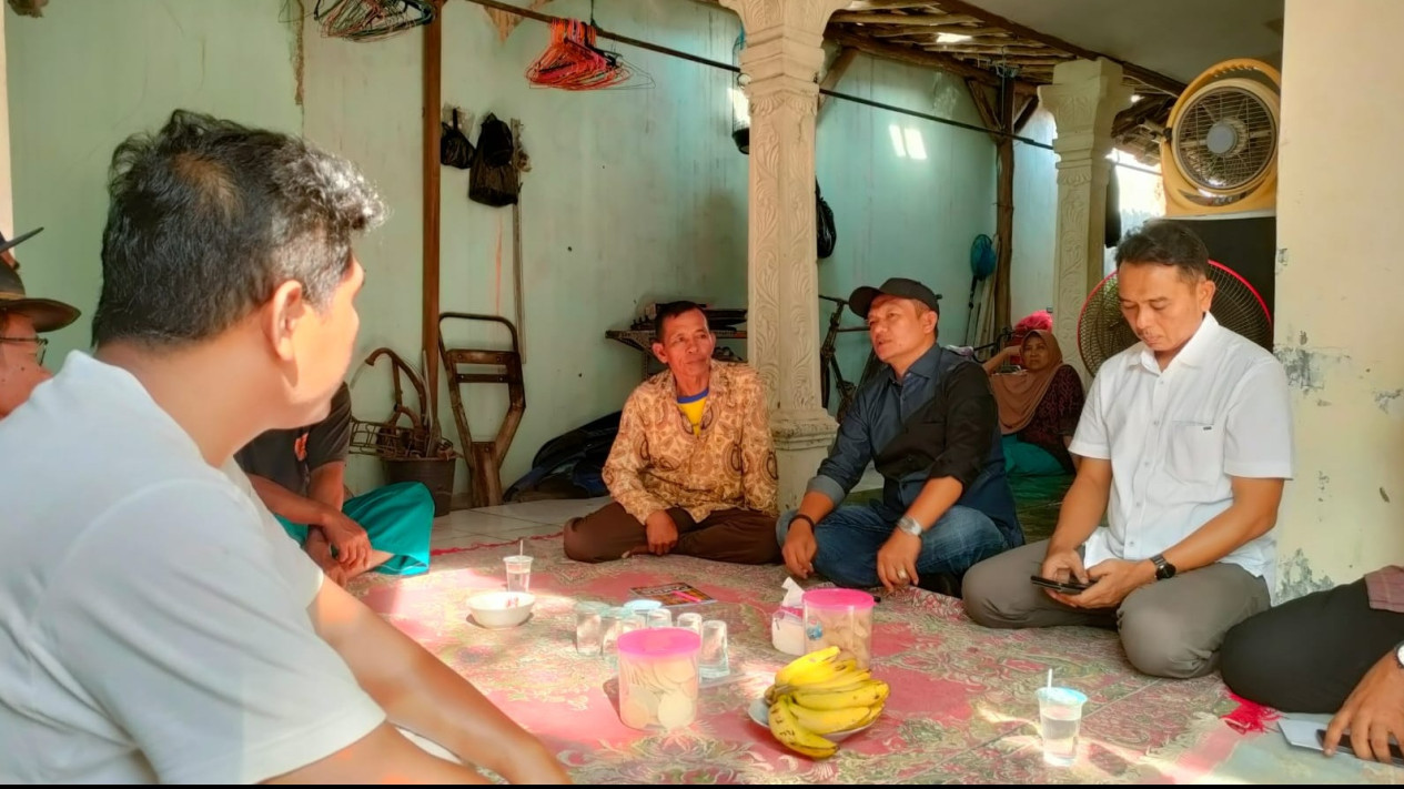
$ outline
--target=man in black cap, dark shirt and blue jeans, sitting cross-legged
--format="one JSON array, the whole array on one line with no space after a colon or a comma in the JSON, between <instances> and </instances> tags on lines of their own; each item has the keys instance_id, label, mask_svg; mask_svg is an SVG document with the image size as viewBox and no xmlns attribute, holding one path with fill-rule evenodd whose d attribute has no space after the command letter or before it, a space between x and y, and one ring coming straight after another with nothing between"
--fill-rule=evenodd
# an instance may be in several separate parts
<instances>
[{"instance_id":1,"label":"man in black cap, dark shirt and blue jeans, sitting cross-legged","mask_svg":"<svg viewBox=\"0 0 1404 789\"><path fill-rule=\"evenodd\" d=\"M848 306L889 371L858 392L799 510L781 517L785 564L845 587L958 594L970 566L1024 545L990 379L936 344L941 306L925 285L893 278ZM882 498L840 507L869 460Z\"/></svg>"}]
</instances>

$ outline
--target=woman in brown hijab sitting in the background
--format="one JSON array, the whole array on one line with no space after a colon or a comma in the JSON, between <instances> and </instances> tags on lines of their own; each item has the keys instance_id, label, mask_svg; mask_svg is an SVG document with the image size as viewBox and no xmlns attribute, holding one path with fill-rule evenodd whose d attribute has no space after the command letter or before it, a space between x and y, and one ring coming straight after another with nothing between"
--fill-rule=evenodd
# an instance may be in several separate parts
<instances>
[{"instance_id":1,"label":"woman in brown hijab sitting in the background","mask_svg":"<svg viewBox=\"0 0 1404 789\"><path fill-rule=\"evenodd\" d=\"M994 372L1015 352L1022 369ZM1039 476L1075 472L1077 459L1067 445L1073 442L1085 394L1077 371L1063 364L1053 333L1029 331L1022 345L1005 348L986 362L986 369L1000 404L1005 470Z\"/></svg>"}]
</instances>

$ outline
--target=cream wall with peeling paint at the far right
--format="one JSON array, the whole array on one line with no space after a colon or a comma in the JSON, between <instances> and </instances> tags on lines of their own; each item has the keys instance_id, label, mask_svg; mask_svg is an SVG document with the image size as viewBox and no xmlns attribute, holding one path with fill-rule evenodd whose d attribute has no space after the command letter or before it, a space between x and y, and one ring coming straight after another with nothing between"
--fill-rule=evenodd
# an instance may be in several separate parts
<instances>
[{"instance_id":1,"label":"cream wall with peeling paint at the far right","mask_svg":"<svg viewBox=\"0 0 1404 789\"><path fill-rule=\"evenodd\" d=\"M1327 7L1330 6L1330 7ZM1404 163L1380 129L1404 108L1360 74L1404 70L1404 3L1287 0L1278 194L1278 358L1296 414L1296 482L1278 525L1279 592L1404 563ZM1351 118L1341 124L1339 118Z\"/></svg>"}]
</instances>

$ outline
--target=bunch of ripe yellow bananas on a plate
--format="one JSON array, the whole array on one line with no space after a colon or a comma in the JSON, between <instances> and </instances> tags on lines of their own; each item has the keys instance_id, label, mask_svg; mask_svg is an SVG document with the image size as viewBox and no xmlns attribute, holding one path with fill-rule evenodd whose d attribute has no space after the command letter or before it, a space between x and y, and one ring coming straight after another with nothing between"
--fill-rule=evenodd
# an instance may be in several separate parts
<instances>
[{"instance_id":1,"label":"bunch of ripe yellow bananas on a plate","mask_svg":"<svg viewBox=\"0 0 1404 789\"><path fill-rule=\"evenodd\" d=\"M771 734L786 748L816 760L838 752L824 734L868 726L882 715L887 682L859 671L858 661L838 660L838 647L800 657L775 672L765 689Z\"/></svg>"}]
</instances>

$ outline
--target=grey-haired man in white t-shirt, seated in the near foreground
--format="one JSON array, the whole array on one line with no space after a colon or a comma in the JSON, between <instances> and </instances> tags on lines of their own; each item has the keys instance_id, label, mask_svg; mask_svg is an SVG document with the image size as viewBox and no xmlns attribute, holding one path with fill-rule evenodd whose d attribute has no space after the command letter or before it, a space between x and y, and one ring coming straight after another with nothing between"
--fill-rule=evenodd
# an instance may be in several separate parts
<instances>
[{"instance_id":1,"label":"grey-haired man in white t-shirt, seated in the near foreground","mask_svg":"<svg viewBox=\"0 0 1404 789\"><path fill-rule=\"evenodd\" d=\"M0 782L564 782L323 583L233 463L326 416L373 190L300 139L183 111L118 147L110 188L95 351L0 421Z\"/></svg>"}]
</instances>

